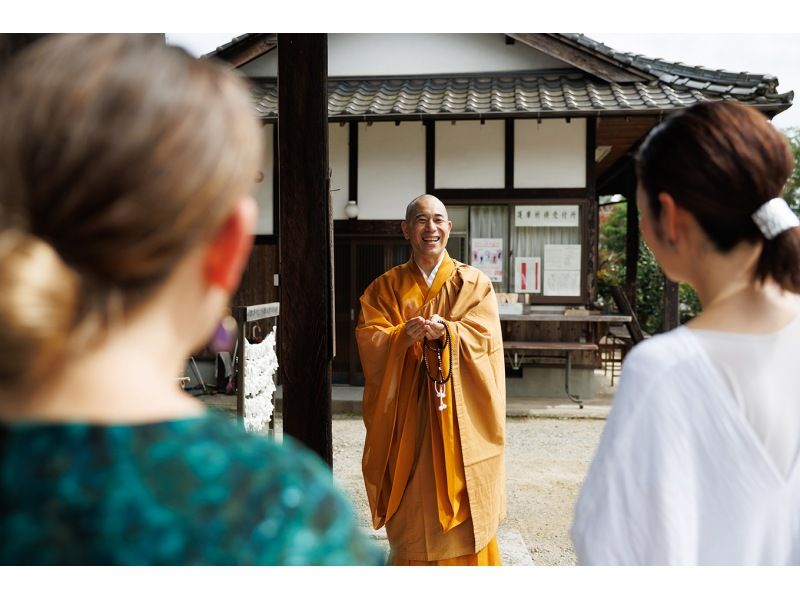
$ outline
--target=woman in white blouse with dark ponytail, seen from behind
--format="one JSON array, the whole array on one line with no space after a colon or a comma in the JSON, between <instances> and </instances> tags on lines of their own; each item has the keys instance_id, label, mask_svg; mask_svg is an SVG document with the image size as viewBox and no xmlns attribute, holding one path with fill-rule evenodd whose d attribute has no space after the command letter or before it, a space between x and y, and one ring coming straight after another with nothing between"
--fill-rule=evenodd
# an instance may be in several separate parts
<instances>
[{"instance_id":1,"label":"woman in white blouse with dark ponytail, seen from behind","mask_svg":"<svg viewBox=\"0 0 800 598\"><path fill-rule=\"evenodd\" d=\"M800 222L786 139L732 101L639 150L641 226L703 312L628 355L576 505L581 564L800 564Z\"/></svg>"}]
</instances>

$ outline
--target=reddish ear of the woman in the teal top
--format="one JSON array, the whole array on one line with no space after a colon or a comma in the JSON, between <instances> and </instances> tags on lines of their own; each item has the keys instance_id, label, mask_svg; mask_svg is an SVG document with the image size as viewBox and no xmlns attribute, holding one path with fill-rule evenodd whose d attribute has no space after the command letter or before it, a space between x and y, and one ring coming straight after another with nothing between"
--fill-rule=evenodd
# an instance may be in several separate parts
<instances>
[{"instance_id":1,"label":"reddish ear of the woman in the teal top","mask_svg":"<svg viewBox=\"0 0 800 598\"><path fill-rule=\"evenodd\" d=\"M238 200L217 229L206 249L206 283L232 293L242 277L247 257L253 247L258 208L252 197Z\"/></svg>"}]
</instances>

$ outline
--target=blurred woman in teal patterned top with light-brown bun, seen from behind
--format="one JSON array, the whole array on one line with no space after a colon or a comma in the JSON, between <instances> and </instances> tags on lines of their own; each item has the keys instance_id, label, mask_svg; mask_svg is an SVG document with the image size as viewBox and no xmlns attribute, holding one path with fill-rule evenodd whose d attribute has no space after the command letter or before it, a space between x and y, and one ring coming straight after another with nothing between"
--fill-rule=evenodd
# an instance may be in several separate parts
<instances>
[{"instance_id":1,"label":"blurred woman in teal patterned top with light-brown bun, seen from behind","mask_svg":"<svg viewBox=\"0 0 800 598\"><path fill-rule=\"evenodd\" d=\"M242 82L54 35L0 106L0 564L382 562L319 459L177 386L252 243Z\"/></svg>"}]
</instances>

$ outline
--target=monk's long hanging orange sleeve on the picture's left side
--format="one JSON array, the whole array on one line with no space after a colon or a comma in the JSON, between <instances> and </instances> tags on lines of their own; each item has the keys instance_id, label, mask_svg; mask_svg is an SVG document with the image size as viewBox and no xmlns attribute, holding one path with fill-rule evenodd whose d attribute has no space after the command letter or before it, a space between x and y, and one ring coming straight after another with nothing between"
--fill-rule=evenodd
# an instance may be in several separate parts
<instances>
[{"instance_id":1,"label":"monk's long hanging orange sleeve on the picture's left side","mask_svg":"<svg viewBox=\"0 0 800 598\"><path fill-rule=\"evenodd\" d=\"M356 326L367 429L361 465L376 529L397 510L411 474L417 429L413 399L420 361L419 344L408 341L394 293L381 282L373 283L361 297Z\"/></svg>"}]
</instances>

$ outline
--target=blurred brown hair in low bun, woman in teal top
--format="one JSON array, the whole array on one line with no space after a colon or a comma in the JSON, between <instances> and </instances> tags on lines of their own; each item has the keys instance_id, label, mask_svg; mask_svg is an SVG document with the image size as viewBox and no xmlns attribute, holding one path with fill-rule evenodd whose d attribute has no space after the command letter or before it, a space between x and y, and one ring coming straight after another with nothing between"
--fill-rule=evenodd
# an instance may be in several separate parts
<instances>
[{"instance_id":1,"label":"blurred brown hair in low bun, woman in teal top","mask_svg":"<svg viewBox=\"0 0 800 598\"><path fill-rule=\"evenodd\" d=\"M47 36L5 68L0 106L13 388L151 297L251 192L262 140L236 75L146 35Z\"/></svg>"}]
</instances>

